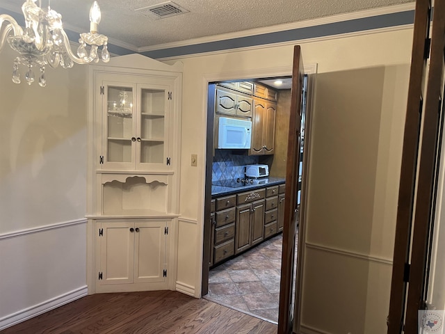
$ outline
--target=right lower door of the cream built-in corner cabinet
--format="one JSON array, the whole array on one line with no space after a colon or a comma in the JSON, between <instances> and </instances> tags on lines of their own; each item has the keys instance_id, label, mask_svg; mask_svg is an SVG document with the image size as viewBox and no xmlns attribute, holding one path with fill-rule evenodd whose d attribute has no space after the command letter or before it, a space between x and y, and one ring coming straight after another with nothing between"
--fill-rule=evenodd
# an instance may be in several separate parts
<instances>
[{"instance_id":1,"label":"right lower door of the cream built-in corner cabinet","mask_svg":"<svg viewBox=\"0 0 445 334\"><path fill-rule=\"evenodd\" d=\"M165 222L134 226L134 283L165 282Z\"/></svg>"}]
</instances>

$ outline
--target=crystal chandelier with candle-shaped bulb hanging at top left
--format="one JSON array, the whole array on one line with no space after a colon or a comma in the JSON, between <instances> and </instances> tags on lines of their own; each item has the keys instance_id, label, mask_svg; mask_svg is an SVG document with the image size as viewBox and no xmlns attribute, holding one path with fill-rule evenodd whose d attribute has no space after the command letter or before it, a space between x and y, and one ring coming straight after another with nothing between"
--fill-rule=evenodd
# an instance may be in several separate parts
<instances>
[{"instance_id":1,"label":"crystal chandelier with candle-shaped bulb hanging at top left","mask_svg":"<svg viewBox=\"0 0 445 334\"><path fill-rule=\"evenodd\" d=\"M100 22L100 8L97 1L92 3L90 9L90 32L81 33L77 55L71 49L70 40L63 30L62 15L48 6L47 10L35 4L36 0L26 0L22 6L25 19L25 28L10 15L0 15L0 51L5 40L10 47L19 53L13 64L13 82L20 84L19 64L28 67L25 74L26 83L31 85L35 81L33 67L39 68L39 85L47 84L44 70L46 65L51 67L73 67L74 63L88 64L99 61L97 49L103 45L101 51L102 61L107 63L110 54L106 47L108 37L97 33ZM11 33L12 32L12 33ZM86 49L90 45L90 52Z\"/></svg>"}]
</instances>

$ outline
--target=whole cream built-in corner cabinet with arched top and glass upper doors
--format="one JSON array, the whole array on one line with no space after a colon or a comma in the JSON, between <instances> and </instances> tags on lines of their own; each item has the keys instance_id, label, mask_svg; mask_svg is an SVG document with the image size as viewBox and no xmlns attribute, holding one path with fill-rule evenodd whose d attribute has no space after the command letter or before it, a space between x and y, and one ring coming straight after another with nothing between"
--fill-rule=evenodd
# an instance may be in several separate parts
<instances>
[{"instance_id":1,"label":"whole cream built-in corner cabinet with arched top and glass upper doors","mask_svg":"<svg viewBox=\"0 0 445 334\"><path fill-rule=\"evenodd\" d=\"M140 55L91 67L92 292L174 287L181 78Z\"/></svg>"}]
</instances>

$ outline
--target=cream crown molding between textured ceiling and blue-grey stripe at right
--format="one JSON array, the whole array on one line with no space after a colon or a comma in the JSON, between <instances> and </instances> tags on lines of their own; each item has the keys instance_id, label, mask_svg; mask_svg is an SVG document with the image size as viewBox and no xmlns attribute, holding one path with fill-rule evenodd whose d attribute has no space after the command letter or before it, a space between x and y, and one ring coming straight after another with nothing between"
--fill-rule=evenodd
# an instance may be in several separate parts
<instances>
[{"instance_id":1,"label":"cream crown molding between textured ceiling and blue-grey stripe at right","mask_svg":"<svg viewBox=\"0 0 445 334\"><path fill-rule=\"evenodd\" d=\"M221 40L230 40L234 38L243 38L252 35L262 35L265 33L275 33L277 31L287 31L292 29L305 28L308 26L319 26L322 24L330 24L342 21L348 21L350 19L362 19L364 17L373 17L378 15L393 14L399 12L406 12L414 10L415 3L404 3L402 5L387 6L382 8L374 8L369 10L360 10L354 13L346 13L339 15L332 15L329 17L321 17L319 19L309 19L300 22L292 22L287 24L277 24L275 26L266 26L262 28L249 29L243 31L237 31L236 33L223 33L220 35L207 36L202 38L193 38L191 40L183 40L181 42L171 42L159 45L152 45L149 47L139 47L138 52L156 51L161 49L170 49L173 47L184 47L190 45L198 45L209 42L218 42Z\"/></svg>"}]
</instances>

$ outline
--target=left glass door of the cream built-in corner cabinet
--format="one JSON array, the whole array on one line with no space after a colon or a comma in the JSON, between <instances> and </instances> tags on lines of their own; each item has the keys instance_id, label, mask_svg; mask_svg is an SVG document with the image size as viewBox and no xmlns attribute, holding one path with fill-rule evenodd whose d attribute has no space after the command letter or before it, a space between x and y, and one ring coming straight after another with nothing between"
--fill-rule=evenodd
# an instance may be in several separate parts
<instances>
[{"instance_id":1,"label":"left glass door of the cream built-in corner cabinet","mask_svg":"<svg viewBox=\"0 0 445 334\"><path fill-rule=\"evenodd\" d=\"M133 86L108 84L104 86L106 119L103 134L104 165L121 167L134 164L135 106Z\"/></svg>"}]
</instances>

